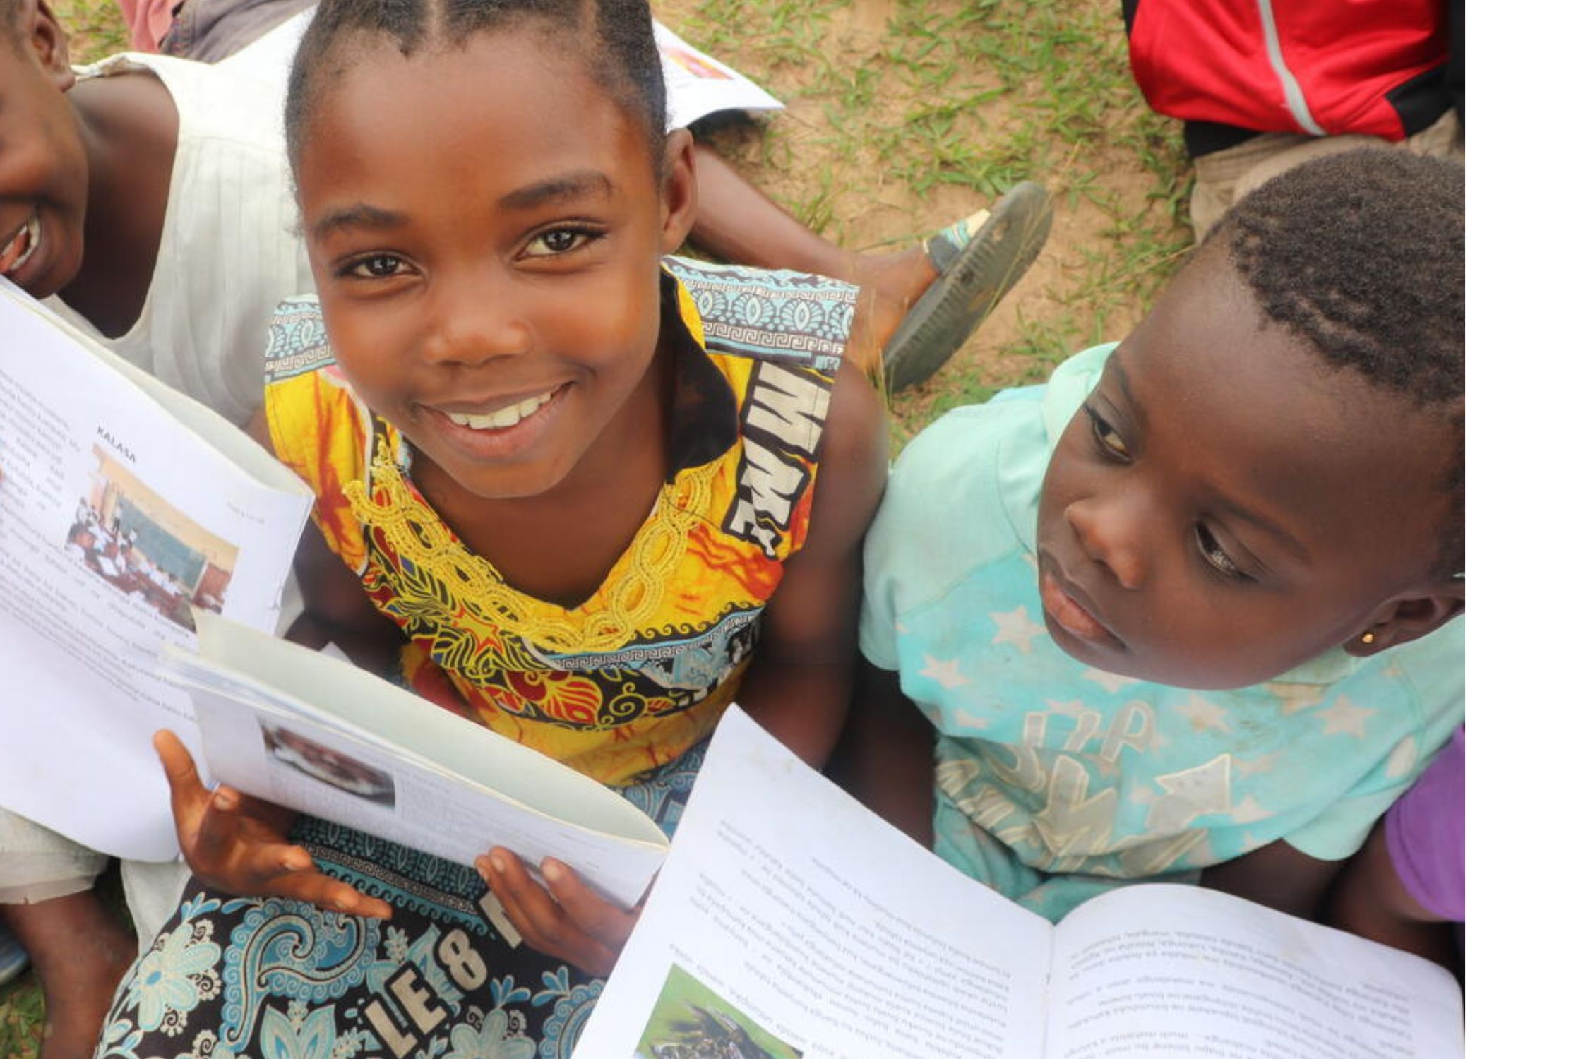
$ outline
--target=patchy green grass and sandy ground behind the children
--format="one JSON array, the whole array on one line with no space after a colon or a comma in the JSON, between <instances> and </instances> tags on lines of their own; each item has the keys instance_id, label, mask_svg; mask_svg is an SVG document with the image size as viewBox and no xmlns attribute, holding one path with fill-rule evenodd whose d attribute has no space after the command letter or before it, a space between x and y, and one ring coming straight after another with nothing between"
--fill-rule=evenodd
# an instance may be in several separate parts
<instances>
[{"instance_id":1,"label":"patchy green grass and sandy ground behind the children","mask_svg":"<svg viewBox=\"0 0 1571 1059\"><path fill-rule=\"evenodd\" d=\"M72 55L124 46L113 0L60 0ZM718 145L782 206L858 250L910 240L1021 179L1056 196L1038 262L928 383L892 401L894 446L943 412L1040 382L1122 336L1189 247L1177 126L1130 79L1106 0L660 0L693 44L789 104ZM872 17L888 8L888 19ZM949 211L949 212L944 212ZM31 977L0 990L0 1059L33 1056Z\"/></svg>"}]
</instances>

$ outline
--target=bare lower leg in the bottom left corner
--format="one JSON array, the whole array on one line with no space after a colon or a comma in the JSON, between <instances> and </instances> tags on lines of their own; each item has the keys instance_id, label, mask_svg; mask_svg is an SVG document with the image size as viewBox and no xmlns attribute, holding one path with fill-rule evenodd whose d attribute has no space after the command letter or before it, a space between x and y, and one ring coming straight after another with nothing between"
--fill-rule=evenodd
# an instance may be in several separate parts
<instances>
[{"instance_id":1,"label":"bare lower leg in the bottom left corner","mask_svg":"<svg viewBox=\"0 0 1571 1059\"><path fill-rule=\"evenodd\" d=\"M121 976L137 955L135 935L91 889L0 905L0 916L33 960L44 990L44 1048L39 1059L93 1054Z\"/></svg>"}]
</instances>

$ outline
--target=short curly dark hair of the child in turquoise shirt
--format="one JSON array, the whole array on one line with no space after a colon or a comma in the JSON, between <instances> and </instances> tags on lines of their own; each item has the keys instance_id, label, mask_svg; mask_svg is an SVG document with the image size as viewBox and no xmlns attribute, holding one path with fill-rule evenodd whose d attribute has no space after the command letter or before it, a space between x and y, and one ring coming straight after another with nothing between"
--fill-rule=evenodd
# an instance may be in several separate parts
<instances>
[{"instance_id":1,"label":"short curly dark hair of the child in turquoise shirt","mask_svg":"<svg viewBox=\"0 0 1571 1059\"><path fill-rule=\"evenodd\" d=\"M1453 453L1433 573L1463 572L1463 167L1357 149L1306 162L1246 195L1207 237L1265 314L1338 368L1450 421Z\"/></svg>"}]
</instances>

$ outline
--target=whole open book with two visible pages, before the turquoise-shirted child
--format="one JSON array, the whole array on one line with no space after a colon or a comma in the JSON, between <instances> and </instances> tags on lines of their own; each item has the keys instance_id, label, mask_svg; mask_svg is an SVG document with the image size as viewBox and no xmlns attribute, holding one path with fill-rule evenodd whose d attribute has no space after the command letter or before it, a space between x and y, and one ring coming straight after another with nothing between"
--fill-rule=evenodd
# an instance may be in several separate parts
<instances>
[{"instance_id":1,"label":"whole open book with two visible pages, before the turquoise-shirted child","mask_svg":"<svg viewBox=\"0 0 1571 1059\"><path fill-rule=\"evenodd\" d=\"M740 710L575 1059L1447 1059L1455 979L1194 886L1053 925L963 877Z\"/></svg>"}]
</instances>

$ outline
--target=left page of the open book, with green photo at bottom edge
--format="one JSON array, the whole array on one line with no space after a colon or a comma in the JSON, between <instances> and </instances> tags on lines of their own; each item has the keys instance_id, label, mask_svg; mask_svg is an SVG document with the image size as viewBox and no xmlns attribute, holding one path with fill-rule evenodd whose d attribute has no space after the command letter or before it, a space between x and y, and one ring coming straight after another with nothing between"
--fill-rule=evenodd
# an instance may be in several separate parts
<instances>
[{"instance_id":1,"label":"left page of the open book, with green photo at bottom edge","mask_svg":"<svg viewBox=\"0 0 1571 1059\"><path fill-rule=\"evenodd\" d=\"M1051 932L734 707L573 1056L1037 1059Z\"/></svg>"}]
</instances>

